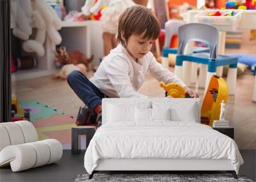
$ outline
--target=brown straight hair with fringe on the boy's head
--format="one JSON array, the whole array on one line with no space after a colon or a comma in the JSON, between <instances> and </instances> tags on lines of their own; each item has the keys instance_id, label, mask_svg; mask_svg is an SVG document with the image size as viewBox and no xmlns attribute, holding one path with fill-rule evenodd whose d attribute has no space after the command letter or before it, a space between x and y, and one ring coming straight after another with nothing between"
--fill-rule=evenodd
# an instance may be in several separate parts
<instances>
[{"instance_id":1,"label":"brown straight hair with fringe on the boy's head","mask_svg":"<svg viewBox=\"0 0 256 182\"><path fill-rule=\"evenodd\" d=\"M132 34L142 34L143 38L156 40L160 34L160 22L145 6L136 5L122 13L118 20L118 42L124 45L122 33L127 41Z\"/></svg>"}]
</instances>

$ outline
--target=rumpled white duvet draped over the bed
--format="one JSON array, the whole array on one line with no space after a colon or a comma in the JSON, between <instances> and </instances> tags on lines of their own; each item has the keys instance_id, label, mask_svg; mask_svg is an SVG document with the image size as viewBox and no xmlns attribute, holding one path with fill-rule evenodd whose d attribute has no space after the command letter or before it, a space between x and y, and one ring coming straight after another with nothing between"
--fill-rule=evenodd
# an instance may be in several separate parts
<instances>
[{"instance_id":1,"label":"rumpled white duvet draped over the bed","mask_svg":"<svg viewBox=\"0 0 256 182\"><path fill-rule=\"evenodd\" d=\"M177 121L106 123L86 150L86 171L92 174L99 159L106 158L229 159L237 173L243 164L230 137L206 125Z\"/></svg>"}]
</instances>

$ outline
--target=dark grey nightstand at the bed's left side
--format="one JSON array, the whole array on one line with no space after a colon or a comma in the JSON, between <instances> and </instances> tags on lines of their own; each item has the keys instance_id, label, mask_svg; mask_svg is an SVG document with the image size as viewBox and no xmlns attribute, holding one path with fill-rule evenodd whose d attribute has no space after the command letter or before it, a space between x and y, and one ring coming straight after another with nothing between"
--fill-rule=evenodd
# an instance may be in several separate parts
<instances>
[{"instance_id":1,"label":"dark grey nightstand at the bed's left side","mask_svg":"<svg viewBox=\"0 0 256 182\"><path fill-rule=\"evenodd\" d=\"M96 130L95 126L74 126L74 127L72 127L71 153L72 154L81 153L81 149L79 149L80 135L86 135L86 148L87 148L90 143L90 140L92 139L92 137L95 133L95 130Z\"/></svg>"}]
</instances>

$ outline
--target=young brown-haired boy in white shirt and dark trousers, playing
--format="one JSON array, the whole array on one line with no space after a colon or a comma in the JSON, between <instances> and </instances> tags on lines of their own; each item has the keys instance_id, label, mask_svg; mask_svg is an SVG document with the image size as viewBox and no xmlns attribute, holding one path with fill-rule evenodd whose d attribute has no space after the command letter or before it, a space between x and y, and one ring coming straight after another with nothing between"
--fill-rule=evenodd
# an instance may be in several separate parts
<instances>
[{"instance_id":1,"label":"young brown-haired boy in white shirt and dark trousers, playing","mask_svg":"<svg viewBox=\"0 0 256 182\"><path fill-rule=\"evenodd\" d=\"M150 52L159 33L159 21L150 10L144 6L127 8L118 22L117 39L120 44L104 58L95 75L90 80L79 71L68 75L68 84L76 95L98 114L98 126L101 125L102 98L147 98L137 91L148 72L159 81L178 83L189 96L196 96Z\"/></svg>"}]
</instances>

